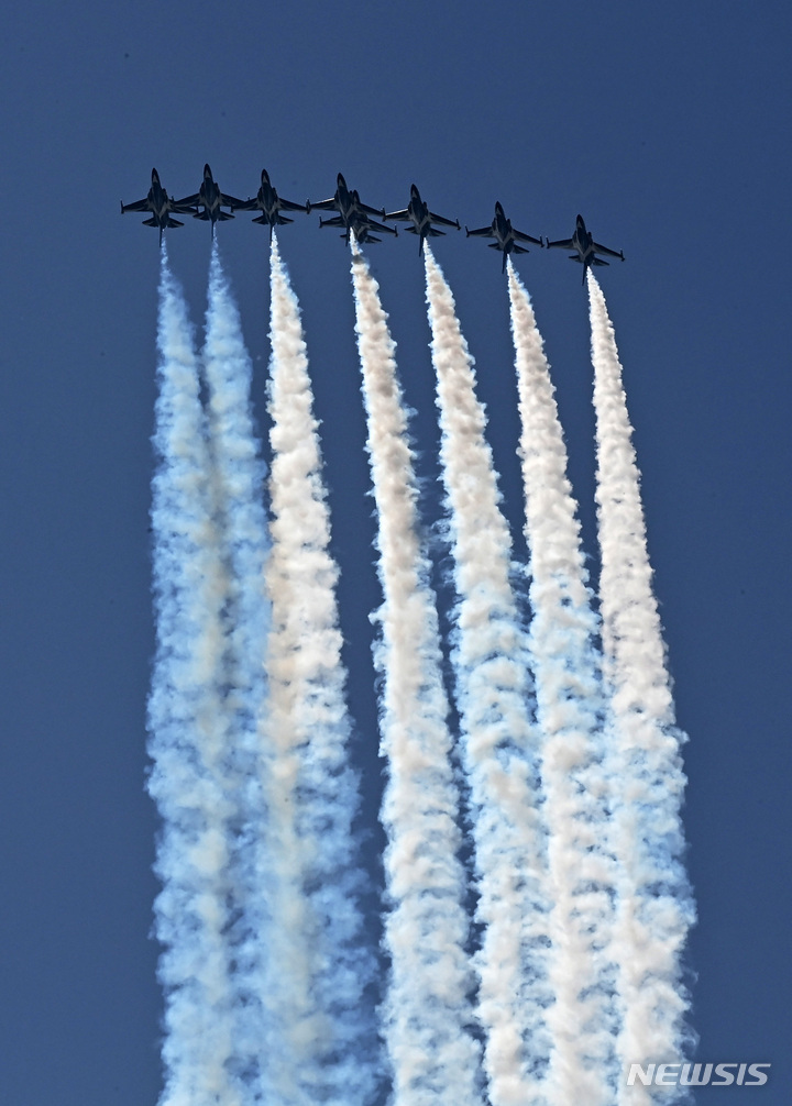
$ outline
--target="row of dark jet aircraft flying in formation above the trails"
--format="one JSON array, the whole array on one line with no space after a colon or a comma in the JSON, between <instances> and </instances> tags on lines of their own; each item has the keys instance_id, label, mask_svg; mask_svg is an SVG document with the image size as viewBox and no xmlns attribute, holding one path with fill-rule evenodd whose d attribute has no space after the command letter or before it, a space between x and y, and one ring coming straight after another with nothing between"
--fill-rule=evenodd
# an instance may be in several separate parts
<instances>
[{"instance_id":1,"label":"row of dark jet aircraft flying in formation above the trails","mask_svg":"<svg viewBox=\"0 0 792 1106\"><path fill-rule=\"evenodd\" d=\"M228 208L228 210L223 211L223 208ZM398 230L395 227L386 226L386 220L388 219L410 225L406 229L409 233L418 236L419 254L424 252L424 242L427 238L447 233L447 231L440 230L440 227L454 227L456 230L461 229L459 219L447 219L430 211L415 185L410 187L409 204L407 207L400 211L387 212L385 208L374 208L364 204L356 188L347 188L341 173L336 178L335 192L329 199L316 200L314 202L305 200L304 204L296 204L293 200L285 200L278 195L278 191L270 181L267 169L261 170L261 187L257 196L252 199L249 197L247 200L237 199L235 196L229 196L220 191L208 165L204 166L204 180L197 192L192 196L185 196L179 200L173 199L163 188L157 170L152 169L152 187L148 190L148 195L134 204L124 204L122 201L121 205L122 215L125 215L127 211L150 212L149 218L144 219L143 222L146 227L159 228L160 246L163 231L166 228L184 226L184 222L179 219L173 218L174 215L191 215L194 219L202 219L210 222L213 236L215 223L226 219L233 219L235 211L260 211L261 213L253 219L253 222L269 226L270 238L272 238L272 229L274 227L294 221L290 216L283 215L283 211L304 211L308 215L314 209L317 211L335 212L335 215L329 218L320 218L319 225L320 227L342 228L341 237L346 241L347 246L353 236L356 242L381 242L382 239L376 238L372 231L398 237ZM487 227L480 227L478 230L468 230L466 227L465 233L468 238L494 239L494 241L489 243L489 247L492 250L499 250L503 254L503 264L501 267L501 271L503 272L506 272L506 259L510 253L529 252L527 247L520 244L521 242L531 242L539 247L546 246L549 249L557 247L564 250L574 250L574 253L570 254L570 260L583 265L584 283L587 269L591 269L593 265L609 264L608 261L605 261L598 254L604 253L607 257L619 258L624 261L624 252L622 250L611 250L607 246L601 246L594 241L581 215L577 216L572 238L562 238L551 242L546 238L544 240L541 237L533 238L531 234L525 234L523 231L517 230L512 227L511 220L507 219L501 204L496 202L494 219L492 222Z\"/></svg>"}]
</instances>

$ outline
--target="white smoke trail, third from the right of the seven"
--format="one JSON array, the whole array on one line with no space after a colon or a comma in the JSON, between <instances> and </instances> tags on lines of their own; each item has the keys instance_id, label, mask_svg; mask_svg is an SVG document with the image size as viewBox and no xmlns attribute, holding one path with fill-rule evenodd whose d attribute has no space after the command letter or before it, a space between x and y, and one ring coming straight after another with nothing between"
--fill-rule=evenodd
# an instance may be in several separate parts
<instances>
[{"instance_id":1,"label":"white smoke trail, third from the right of the seven","mask_svg":"<svg viewBox=\"0 0 792 1106\"><path fill-rule=\"evenodd\" d=\"M529 1106L541 1092L546 1066L549 992L528 653L509 582L511 538L499 508L472 357L428 244L424 252L458 595L452 660L471 792L477 920L483 926L476 959L484 1067L492 1106Z\"/></svg>"}]
</instances>

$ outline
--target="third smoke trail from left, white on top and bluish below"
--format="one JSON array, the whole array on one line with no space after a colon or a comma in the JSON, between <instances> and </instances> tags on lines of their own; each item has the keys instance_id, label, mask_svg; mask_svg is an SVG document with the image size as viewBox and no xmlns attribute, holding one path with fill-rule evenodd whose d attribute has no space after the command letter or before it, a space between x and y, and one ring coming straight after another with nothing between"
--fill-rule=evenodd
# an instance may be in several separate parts
<instances>
[{"instance_id":1,"label":"third smoke trail from left, white on top and bluish below","mask_svg":"<svg viewBox=\"0 0 792 1106\"><path fill-rule=\"evenodd\" d=\"M271 1106L371 1106L381 1062L371 984L375 960L361 912L363 873L352 823L358 780L329 553L330 514L300 309L271 247L269 411L272 629L261 734L269 812L260 870L273 925L262 1002Z\"/></svg>"}]
</instances>

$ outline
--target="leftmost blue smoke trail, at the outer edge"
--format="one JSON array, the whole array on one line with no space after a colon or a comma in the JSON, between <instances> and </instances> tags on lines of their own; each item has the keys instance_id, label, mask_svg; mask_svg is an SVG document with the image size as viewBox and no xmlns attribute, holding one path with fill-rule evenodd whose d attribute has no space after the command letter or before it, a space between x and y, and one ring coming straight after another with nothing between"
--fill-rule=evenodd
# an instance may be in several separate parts
<instances>
[{"instance_id":1,"label":"leftmost blue smoke trail, at the outer edge","mask_svg":"<svg viewBox=\"0 0 792 1106\"><path fill-rule=\"evenodd\" d=\"M238 1106L233 993L225 937L230 797L221 681L225 578L208 497L209 457L192 332L165 249L154 445L157 656L148 706L148 790L163 818L156 932L165 946L160 1106Z\"/></svg>"}]
</instances>

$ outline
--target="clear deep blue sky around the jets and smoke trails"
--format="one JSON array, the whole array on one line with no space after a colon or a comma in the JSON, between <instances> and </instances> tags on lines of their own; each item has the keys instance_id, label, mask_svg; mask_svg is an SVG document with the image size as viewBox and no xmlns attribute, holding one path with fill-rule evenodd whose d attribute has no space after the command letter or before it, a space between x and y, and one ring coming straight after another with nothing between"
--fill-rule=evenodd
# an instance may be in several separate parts
<instances>
[{"instance_id":1,"label":"clear deep blue sky around the jets and smoke trails","mask_svg":"<svg viewBox=\"0 0 792 1106\"><path fill-rule=\"evenodd\" d=\"M156 231L118 217L152 166L177 196L209 160L290 199L343 171L365 201L479 227L496 199L530 234L584 215L624 265L616 327L680 724L699 925L687 962L698 1056L772 1061L740 1102L789 1100L790 43L792 9L583 0L239 0L9 6L0 42L0 1102L139 1106L160 1087L156 816L144 793L154 647L149 436ZM265 434L267 231L219 228ZM168 236L194 320L206 225ZM281 236L301 300L343 578L366 817L381 786L369 658L378 603L348 254L317 218ZM368 251L439 517L416 239ZM477 358L524 556L513 351L500 255L436 254ZM580 269L518 269L557 389L596 571L588 319ZM700 1093L708 1102L715 1091ZM737 1094L737 1088L732 1092Z\"/></svg>"}]
</instances>

